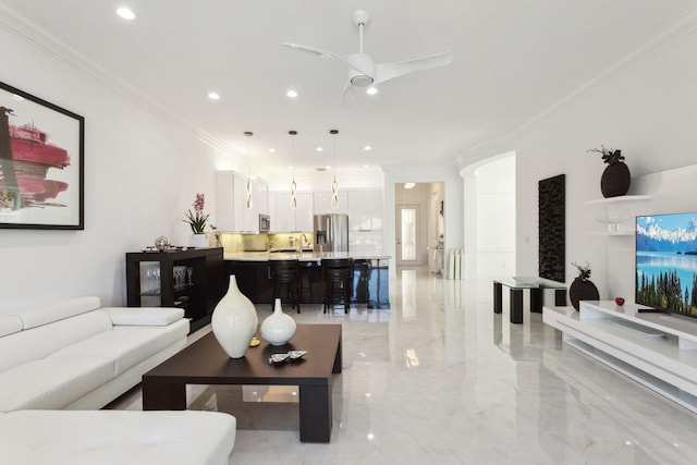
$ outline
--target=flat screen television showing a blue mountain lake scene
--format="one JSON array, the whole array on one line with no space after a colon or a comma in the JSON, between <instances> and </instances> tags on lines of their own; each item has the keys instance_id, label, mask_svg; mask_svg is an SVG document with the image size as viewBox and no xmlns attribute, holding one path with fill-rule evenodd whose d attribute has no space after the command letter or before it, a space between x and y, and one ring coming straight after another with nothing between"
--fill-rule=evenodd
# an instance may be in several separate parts
<instances>
[{"instance_id":1,"label":"flat screen television showing a blue mountain lake scene","mask_svg":"<svg viewBox=\"0 0 697 465\"><path fill-rule=\"evenodd\" d=\"M635 302L697 318L697 213L636 217Z\"/></svg>"}]
</instances>

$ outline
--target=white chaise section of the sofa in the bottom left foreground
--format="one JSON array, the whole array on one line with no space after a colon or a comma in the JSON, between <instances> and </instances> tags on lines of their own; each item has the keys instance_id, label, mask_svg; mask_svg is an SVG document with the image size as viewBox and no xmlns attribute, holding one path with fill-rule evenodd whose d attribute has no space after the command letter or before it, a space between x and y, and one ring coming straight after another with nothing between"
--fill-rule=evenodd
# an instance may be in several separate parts
<instances>
[{"instance_id":1,"label":"white chaise section of the sofa in the bottom left foreground","mask_svg":"<svg viewBox=\"0 0 697 465\"><path fill-rule=\"evenodd\" d=\"M0 450L23 465L223 465L235 430L217 412L22 411L0 415Z\"/></svg>"}]
</instances>

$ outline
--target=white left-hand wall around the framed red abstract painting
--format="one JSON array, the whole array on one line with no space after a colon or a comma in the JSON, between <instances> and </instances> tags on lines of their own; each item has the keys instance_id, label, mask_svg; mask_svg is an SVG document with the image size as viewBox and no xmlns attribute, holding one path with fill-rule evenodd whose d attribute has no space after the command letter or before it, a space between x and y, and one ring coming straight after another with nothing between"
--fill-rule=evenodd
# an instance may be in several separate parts
<instances>
[{"instance_id":1,"label":"white left-hand wall around the framed red abstract painting","mask_svg":"<svg viewBox=\"0 0 697 465\"><path fill-rule=\"evenodd\" d=\"M124 254L160 234L186 244L184 212L196 193L216 211L215 169L229 157L9 30L0 81L85 117L85 230L1 229L0 313L78 295L125 304Z\"/></svg>"}]
</instances>

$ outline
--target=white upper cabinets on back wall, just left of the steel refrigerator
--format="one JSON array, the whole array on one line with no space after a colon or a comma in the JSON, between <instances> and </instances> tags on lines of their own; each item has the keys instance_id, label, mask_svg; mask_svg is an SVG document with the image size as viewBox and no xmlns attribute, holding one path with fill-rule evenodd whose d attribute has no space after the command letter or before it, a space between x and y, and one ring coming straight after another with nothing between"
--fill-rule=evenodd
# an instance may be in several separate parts
<instances>
[{"instance_id":1,"label":"white upper cabinets on back wall, just left of the steel refrigerator","mask_svg":"<svg viewBox=\"0 0 697 465\"><path fill-rule=\"evenodd\" d=\"M269 211L271 231L273 232L311 232L313 231L313 193L295 194L297 206L291 207L290 192L270 192Z\"/></svg>"}]
</instances>

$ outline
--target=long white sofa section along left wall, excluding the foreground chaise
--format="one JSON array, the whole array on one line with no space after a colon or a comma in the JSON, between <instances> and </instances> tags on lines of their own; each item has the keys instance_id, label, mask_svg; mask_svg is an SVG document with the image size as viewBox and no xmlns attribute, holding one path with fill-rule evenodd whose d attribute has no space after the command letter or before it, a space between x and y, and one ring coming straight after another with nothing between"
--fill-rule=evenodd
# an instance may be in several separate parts
<instances>
[{"instance_id":1,"label":"long white sofa section along left wall, excluding the foreground chaise","mask_svg":"<svg viewBox=\"0 0 697 465\"><path fill-rule=\"evenodd\" d=\"M0 315L0 412L101 408L186 344L183 316L98 297Z\"/></svg>"}]
</instances>

